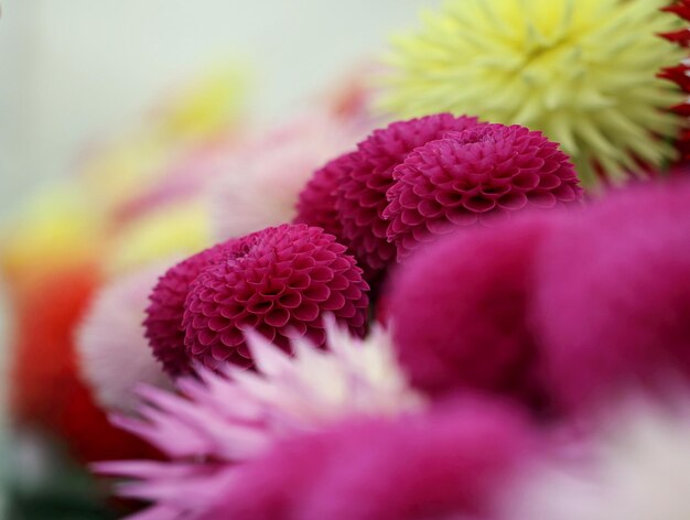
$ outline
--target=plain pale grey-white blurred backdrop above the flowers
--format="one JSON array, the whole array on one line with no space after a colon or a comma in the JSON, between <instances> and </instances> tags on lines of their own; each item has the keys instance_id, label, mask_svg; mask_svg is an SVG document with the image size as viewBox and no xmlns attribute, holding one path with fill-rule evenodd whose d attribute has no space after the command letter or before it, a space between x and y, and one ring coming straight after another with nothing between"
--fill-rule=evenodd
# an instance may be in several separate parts
<instances>
[{"instance_id":1,"label":"plain pale grey-white blurred backdrop above the flowers","mask_svg":"<svg viewBox=\"0 0 690 520\"><path fill-rule=\"evenodd\" d=\"M278 118L382 48L438 0L2 0L0 215L89 143L219 63Z\"/></svg>"}]
</instances>

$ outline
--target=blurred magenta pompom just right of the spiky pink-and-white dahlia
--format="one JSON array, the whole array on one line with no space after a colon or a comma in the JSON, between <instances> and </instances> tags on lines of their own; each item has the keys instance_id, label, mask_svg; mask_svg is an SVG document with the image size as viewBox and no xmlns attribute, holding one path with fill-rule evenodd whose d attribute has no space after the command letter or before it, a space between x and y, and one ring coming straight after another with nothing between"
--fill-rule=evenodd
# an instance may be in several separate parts
<instances>
[{"instance_id":1,"label":"blurred magenta pompom just right of the spiky pink-and-white dahlia","mask_svg":"<svg viewBox=\"0 0 690 520\"><path fill-rule=\"evenodd\" d=\"M535 390L527 316L535 256L549 228L529 218L456 232L398 269L387 311L413 386L434 396L472 388L528 397Z\"/></svg>"}]
</instances>

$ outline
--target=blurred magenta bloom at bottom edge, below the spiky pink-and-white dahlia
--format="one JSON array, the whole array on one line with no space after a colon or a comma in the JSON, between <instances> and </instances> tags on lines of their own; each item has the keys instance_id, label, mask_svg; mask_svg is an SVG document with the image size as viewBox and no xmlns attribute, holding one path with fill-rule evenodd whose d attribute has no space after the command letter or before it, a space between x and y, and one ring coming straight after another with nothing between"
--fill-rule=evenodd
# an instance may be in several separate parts
<instances>
[{"instance_id":1,"label":"blurred magenta bloom at bottom edge, below the spiky pink-and-white dahlia","mask_svg":"<svg viewBox=\"0 0 690 520\"><path fill-rule=\"evenodd\" d=\"M487 518L533 445L519 413L483 400L351 420L242 465L200 518Z\"/></svg>"}]
</instances>

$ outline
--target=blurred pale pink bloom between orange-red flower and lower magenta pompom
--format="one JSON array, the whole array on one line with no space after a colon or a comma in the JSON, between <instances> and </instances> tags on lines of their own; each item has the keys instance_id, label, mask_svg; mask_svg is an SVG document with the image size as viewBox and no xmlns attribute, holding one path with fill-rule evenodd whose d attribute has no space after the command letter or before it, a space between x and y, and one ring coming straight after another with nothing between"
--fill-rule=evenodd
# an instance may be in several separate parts
<instances>
[{"instance_id":1,"label":"blurred pale pink bloom between orange-red flower and lower magenta pompom","mask_svg":"<svg viewBox=\"0 0 690 520\"><path fill-rule=\"evenodd\" d=\"M133 272L103 288L76 331L80 372L108 410L133 410L138 383L171 386L151 356L141 326L158 272L158 268Z\"/></svg>"}]
</instances>

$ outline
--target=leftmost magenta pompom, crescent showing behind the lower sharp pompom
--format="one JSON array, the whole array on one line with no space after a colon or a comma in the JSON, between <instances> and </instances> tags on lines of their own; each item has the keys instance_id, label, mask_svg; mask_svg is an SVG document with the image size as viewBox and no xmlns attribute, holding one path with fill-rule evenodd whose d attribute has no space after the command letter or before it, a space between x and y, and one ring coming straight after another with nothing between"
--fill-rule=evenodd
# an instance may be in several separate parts
<instances>
[{"instance_id":1,"label":"leftmost magenta pompom, crescent showing behind the lower sharp pompom","mask_svg":"<svg viewBox=\"0 0 690 520\"><path fill-rule=\"evenodd\" d=\"M176 377L190 371L190 358L184 347L184 302L196 277L217 261L231 240L214 246L170 268L160 277L149 295L144 335L153 355L163 369Z\"/></svg>"}]
</instances>

